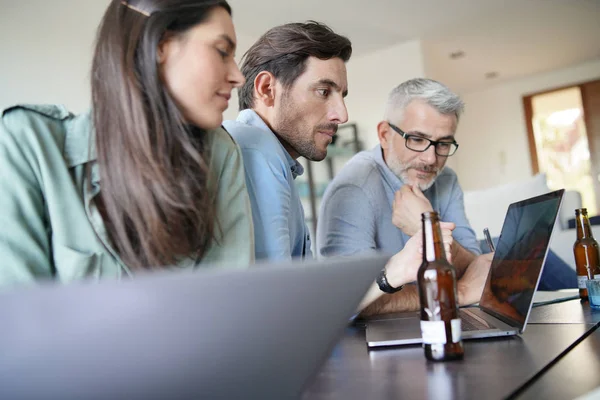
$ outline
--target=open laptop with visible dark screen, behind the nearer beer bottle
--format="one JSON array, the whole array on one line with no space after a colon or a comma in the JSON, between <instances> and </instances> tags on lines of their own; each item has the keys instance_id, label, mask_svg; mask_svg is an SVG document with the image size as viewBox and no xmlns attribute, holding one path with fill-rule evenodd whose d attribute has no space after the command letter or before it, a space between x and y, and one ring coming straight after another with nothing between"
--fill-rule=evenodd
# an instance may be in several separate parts
<instances>
[{"instance_id":1,"label":"open laptop with visible dark screen, behind the nearer beer bottle","mask_svg":"<svg viewBox=\"0 0 600 400\"><path fill-rule=\"evenodd\" d=\"M462 308L463 339L523 333L533 304L564 190L508 207L479 307ZM370 318L369 347L421 343L419 314Z\"/></svg>"}]
</instances>

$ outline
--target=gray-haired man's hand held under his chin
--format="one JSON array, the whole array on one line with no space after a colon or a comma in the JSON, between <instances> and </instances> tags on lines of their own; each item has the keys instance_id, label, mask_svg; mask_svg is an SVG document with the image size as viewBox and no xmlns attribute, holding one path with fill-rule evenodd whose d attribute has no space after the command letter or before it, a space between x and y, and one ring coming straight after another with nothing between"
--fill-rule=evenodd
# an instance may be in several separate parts
<instances>
[{"instance_id":1,"label":"gray-haired man's hand held under his chin","mask_svg":"<svg viewBox=\"0 0 600 400\"><path fill-rule=\"evenodd\" d=\"M433 207L418 187L404 185L394 194L392 223L408 236L417 233L421 214L426 211L433 211Z\"/></svg>"}]
</instances>

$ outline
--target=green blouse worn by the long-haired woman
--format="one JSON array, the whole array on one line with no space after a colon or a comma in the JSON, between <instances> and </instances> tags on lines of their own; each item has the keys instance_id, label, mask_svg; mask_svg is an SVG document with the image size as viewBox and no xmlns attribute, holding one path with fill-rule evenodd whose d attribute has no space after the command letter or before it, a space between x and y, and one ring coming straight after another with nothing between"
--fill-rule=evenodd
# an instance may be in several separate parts
<instances>
[{"instance_id":1,"label":"green blouse worn by the long-haired woman","mask_svg":"<svg viewBox=\"0 0 600 400\"><path fill-rule=\"evenodd\" d=\"M201 260L177 267L245 268L254 261L254 234L240 149L222 128L209 132L209 146L221 236ZM2 113L0 287L132 275L93 201L100 183L90 113L35 105Z\"/></svg>"}]
</instances>

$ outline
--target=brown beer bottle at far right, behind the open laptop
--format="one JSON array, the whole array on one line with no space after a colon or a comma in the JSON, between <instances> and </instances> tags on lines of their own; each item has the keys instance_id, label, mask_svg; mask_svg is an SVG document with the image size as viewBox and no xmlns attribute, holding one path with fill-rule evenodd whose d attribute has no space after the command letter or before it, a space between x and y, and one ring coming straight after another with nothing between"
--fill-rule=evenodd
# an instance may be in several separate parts
<instances>
[{"instance_id":1,"label":"brown beer bottle at far right, behind the open laptop","mask_svg":"<svg viewBox=\"0 0 600 400\"><path fill-rule=\"evenodd\" d=\"M575 210L575 224L577 225L577 240L573 245L573 253L575 254L579 297L581 300L587 300L588 293L585 281L594 277L600 278L598 242L592 235L587 209L579 208Z\"/></svg>"}]
</instances>

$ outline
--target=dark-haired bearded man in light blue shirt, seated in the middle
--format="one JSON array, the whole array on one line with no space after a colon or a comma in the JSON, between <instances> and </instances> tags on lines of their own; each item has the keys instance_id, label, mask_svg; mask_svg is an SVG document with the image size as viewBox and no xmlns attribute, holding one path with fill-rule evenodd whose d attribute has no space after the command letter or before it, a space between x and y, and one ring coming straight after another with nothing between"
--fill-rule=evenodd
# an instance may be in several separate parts
<instances>
[{"instance_id":1,"label":"dark-haired bearded man in light blue shirt, seated in the middle","mask_svg":"<svg viewBox=\"0 0 600 400\"><path fill-rule=\"evenodd\" d=\"M351 54L348 38L309 21L270 29L242 58L241 112L223 126L242 149L257 260L312 258L297 159L323 160L348 120Z\"/></svg>"}]
</instances>

